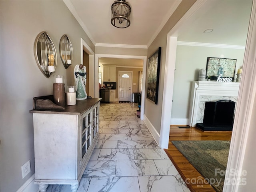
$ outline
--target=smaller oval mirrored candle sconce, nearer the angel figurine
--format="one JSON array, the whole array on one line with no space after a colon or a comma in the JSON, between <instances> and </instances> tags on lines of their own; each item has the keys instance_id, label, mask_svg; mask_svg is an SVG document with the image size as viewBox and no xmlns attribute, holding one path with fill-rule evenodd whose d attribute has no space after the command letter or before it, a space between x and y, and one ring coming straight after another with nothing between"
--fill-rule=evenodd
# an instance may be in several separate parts
<instances>
[{"instance_id":1,"label":"smaller oval mirrored candle sconce, nearer the angel figurine","mask_svg":"<svg viewBox=\"0 0 256 192\"><path fill-rule=\"evenodd\" d=\"M60 38L60 58L64 67L67 69L73 59L73 47L66 34Z\"/></svg>"}]
</instances>

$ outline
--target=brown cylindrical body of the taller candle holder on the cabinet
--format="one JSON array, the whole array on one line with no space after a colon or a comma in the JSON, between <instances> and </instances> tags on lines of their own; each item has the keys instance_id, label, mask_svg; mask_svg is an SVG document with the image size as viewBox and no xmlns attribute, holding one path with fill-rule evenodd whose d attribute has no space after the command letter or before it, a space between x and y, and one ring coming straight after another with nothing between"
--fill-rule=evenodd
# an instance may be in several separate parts
<instances>
[{"instance_id":1,"label":"brown cylindrical body of the taller candle holder on the cabinet","mask_svg":"<svg viewBox=\"0 0 256 192\"><path fill-rule=\"evenodd\" d=\"M53 101L55 104L64 107L65 106L65 84L54 83L53 84Z\"/></svg>"}]
</instances>

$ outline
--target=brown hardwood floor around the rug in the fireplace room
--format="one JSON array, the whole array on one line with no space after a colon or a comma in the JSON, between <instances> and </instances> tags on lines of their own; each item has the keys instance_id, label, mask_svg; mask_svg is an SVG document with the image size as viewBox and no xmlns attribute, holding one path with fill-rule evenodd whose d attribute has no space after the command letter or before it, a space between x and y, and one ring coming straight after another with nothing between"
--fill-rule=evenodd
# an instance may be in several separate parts
<instances>
[{"instance_id":1,"label":"brown hardwood floor around the rug in the fireplace room","mask_svg":"<svg viewBox=\"0 0 256 192\"><path fill-rule=\"evenodd\" d=\"M232 131L201 131L198 128L178 128L170 126L169 147L165 149L172 163L182 176L183 180L196 180L202 176L172 144L174 140L231 140ZM192 182L195 183L195 182ZM192 192L215 192L210 184L189 184L187 186Z\"/></svg>"}]
</instances>

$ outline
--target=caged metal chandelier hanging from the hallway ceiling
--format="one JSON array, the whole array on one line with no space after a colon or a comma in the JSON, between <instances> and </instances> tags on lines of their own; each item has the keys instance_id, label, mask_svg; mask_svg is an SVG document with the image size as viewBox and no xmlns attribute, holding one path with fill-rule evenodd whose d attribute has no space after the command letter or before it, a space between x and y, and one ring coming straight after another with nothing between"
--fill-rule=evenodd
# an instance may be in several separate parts
<instances>
[{"instance_id":1,"label":"caged metal chandelier hanging from the hallway ceiling","mask_svg":"<svg viewBox=\"0 0 256 192\"><path fill-rule=\"evenodd\" d=\"M111 6L111 24L117 28L130 26L131 7L125 0L117 0Z\"/></svg>"}]
</instances>

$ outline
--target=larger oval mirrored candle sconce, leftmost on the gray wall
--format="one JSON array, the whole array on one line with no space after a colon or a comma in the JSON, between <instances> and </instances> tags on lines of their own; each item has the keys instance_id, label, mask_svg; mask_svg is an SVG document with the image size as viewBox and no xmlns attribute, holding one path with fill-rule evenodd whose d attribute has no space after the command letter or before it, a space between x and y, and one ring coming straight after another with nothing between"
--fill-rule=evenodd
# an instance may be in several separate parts
<instances>
[{"instance_id":1,"label":"larger oval mirrored candle sconce, leftmost on the gray wall","mask_svg":"<svg viewBox=\"0 0 256 192\"><path fill-rule=\"evenodd\" d=\"M41 32L36 37L34 43L34 55L36 63L41 72L48 78L55 72L57 66L57 55L54 44L50 36L45 32Z\"/></svg>"}]
</instances>

